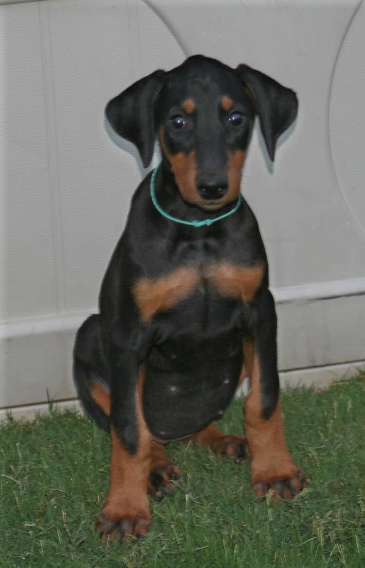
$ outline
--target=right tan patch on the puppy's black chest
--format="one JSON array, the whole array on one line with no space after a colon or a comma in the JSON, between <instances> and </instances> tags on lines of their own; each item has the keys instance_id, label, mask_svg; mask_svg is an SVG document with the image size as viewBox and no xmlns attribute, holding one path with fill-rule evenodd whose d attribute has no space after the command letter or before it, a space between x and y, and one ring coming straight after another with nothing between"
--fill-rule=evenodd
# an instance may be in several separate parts
<instances>
[{"instance_id":1,"label":"right tan patch on the puppy's black chest","mask_svg":"<svg viewBox=\"0 0 365 568\"><path fill-rule=\"evenodd\" d=\"M251 302L264 277L265 265L234 266L222 262L212 266L207 274L214 286L225 296L240 302Z\"/></svg>"}]
</instances>

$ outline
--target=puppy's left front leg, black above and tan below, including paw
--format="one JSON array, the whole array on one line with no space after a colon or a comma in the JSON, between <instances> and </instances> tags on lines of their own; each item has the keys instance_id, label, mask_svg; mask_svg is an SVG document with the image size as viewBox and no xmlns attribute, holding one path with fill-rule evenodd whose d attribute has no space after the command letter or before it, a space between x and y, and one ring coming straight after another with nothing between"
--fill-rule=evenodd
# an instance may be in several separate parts
<instances>
[{"instance_id":1,"label":"puppy's left front leg, black above and tan below, including paw","mask_svg":"<svg viewBox=\"0 0 365 568\"><path fill-rule=\"evenodd\" d=\"M118 337L123 337L120 329L118 332ZM131 339L129 336L122 348L120 341L112 342L109 349L111 481L97 519L100 537L103 540L119 538L120 542L126 534L138 536L150 526L147 482L151 436L142 410L145 369L140 342L133 345Z\"/></svg>"}]
</instances>

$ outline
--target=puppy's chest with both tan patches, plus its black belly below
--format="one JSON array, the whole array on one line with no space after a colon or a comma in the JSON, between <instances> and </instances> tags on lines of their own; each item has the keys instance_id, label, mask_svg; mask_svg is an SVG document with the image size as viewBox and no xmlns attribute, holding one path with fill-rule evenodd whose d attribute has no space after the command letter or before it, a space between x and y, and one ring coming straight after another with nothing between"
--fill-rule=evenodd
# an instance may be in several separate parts
<instances>
[{"instance_id":1,"label":"puppy's chest with both tan patches, plus its black belly below","mask_svg":"<svg viewBox=\"0 0 365 568\"><path fill-rule=\"evenodd\" d=\"M158 329L143 402L156 438L187 436L223 414L243 363L241 306L253 300L263 275L262 263L190 258L135 282L140 318Z\"/></svg>"}]
</instances>

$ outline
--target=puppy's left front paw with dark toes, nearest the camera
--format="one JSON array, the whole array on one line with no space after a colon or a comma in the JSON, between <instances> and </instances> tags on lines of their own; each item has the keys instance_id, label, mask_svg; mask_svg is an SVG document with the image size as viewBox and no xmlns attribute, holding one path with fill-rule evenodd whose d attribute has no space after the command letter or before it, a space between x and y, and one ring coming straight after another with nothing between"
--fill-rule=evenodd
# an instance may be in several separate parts
<instances>
[{"instance_id":1,"label":"puppy's left front paw with dark toes, nearest the camera","mask_svg":"<svg viewBox=\"0 0 365 568\"><path fill-rule=\"evenodd\" d=\"M110 515L105 509L96 519L96 533L103 541L118 541L122 544L126 537L140 538L150 529L148 513L134 513L132 515Z\"/></svg>"}]
</instances>

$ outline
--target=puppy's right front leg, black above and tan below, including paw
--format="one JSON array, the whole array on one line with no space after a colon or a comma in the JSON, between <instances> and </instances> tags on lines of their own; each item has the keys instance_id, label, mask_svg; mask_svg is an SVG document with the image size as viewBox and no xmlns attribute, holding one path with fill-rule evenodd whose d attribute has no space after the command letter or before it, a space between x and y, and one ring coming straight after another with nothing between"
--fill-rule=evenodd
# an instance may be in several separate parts
<instances>
[{"instance_id":1,"label":"puppy's right front leg, black above and tan below, including paw","mask_svg":"<svg viewBox=\"0 0 365 568\"><path fill-rule=\"evenodd\" d=\"M277 319L273 296L261 292L252 304L253 338L243 343L250 390L245 399L245 433L252 456L251 479L257 496L270 488L290 499L306 486L305 475L288 452L277 370Z\"/></svg>"}]
</instances>

